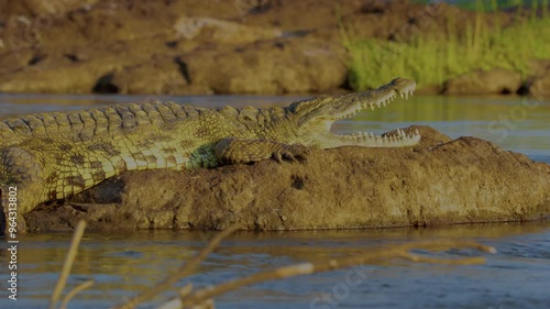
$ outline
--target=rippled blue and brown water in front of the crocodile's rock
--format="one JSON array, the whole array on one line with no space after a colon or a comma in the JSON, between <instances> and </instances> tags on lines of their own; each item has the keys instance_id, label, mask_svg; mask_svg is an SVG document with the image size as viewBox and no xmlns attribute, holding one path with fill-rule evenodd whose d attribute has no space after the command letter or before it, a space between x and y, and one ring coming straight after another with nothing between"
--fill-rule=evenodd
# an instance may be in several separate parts
<instances>
[{"instance_id":1,"label":"rippled blue and brown water in front of the crocodile's rock","mask_svg":"<svg viewBox=\"0 0 550 309\"><path fill-rule=\"evenodd\" d=\"M107 308L151 287L197 253L216 232L136 231L87 234L68 287L95 279L73 308ZM47 301L70 235L21 239L20 302ZM239 232L224 241L189 280L219 284L258 271L359 253L381 244L469 238L493 245L485 265L449 266L386 261L239 289L217 298L218 308L549 308L550 222L300 232ZM477 255L472 251L433 253L437 257ZM350 272L361 272L356 284ZM348 282L346 282L348 278ZM359 280L359 282L358 282ZM348 284L346 284L348 283ZM346 286L348 285L348 286ZM324 296L322 294L326 294ZM165 294L164 298L174 294ZM155 302L158 304L160 300ZM332 304L334 306L330 306ZM326 307L330 306L330 307ZM1 305L0 305L1 307ZM3 307L2 307L3 308Z\"/></svg>"}]
</instances>

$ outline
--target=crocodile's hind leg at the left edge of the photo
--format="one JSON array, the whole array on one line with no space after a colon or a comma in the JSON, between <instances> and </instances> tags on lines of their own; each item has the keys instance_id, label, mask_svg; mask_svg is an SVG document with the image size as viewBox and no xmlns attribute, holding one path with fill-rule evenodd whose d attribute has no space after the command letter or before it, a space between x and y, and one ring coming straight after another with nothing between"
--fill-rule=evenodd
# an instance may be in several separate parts
<instances>
[{"instance_id":1,"label":"crocodile's hind leg at the left edge of the photo","mask_svg":"<svg viewBox=\"0 0 550 309\"><path fill-rule=\"evenodd\" d=\"M14 228L12 222L15 221L16 231L25 232L23 213L31 211L41 202L45 184L42 165L34 154L15 146L1 151L0 188L7 223L6 231L10 227ZM16 220L12 220L14 213L16 213Z\"/></svg>"}]
</instances>

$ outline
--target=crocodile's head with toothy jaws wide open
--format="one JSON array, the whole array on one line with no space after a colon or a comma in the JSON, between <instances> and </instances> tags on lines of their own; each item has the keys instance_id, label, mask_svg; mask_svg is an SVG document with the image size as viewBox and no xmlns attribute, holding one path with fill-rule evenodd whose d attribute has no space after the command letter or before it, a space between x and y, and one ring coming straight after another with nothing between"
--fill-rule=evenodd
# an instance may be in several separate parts
<instances>
[{"instance_id":1,"label":"crocodile's head with toothy jaws wide open","mask_svg":"<svg viewBox=\"0 0 550 309\"><path fill-rule=\"evenodd\" d=\"M337 120L353 117L358 111L381 108L397 96L408 99L413 95L416 82L410 79L395 78L391 82L359 93L341 97L319 97L298 101L288 107L298 126L297 143L320 148L332 148L345 145L365 147L402 147L411 146L420 141L418 132L405 134L397 130L396 135L380 136L373 133L334 134L330 132Z\"/></svg>"}]
</instances>

